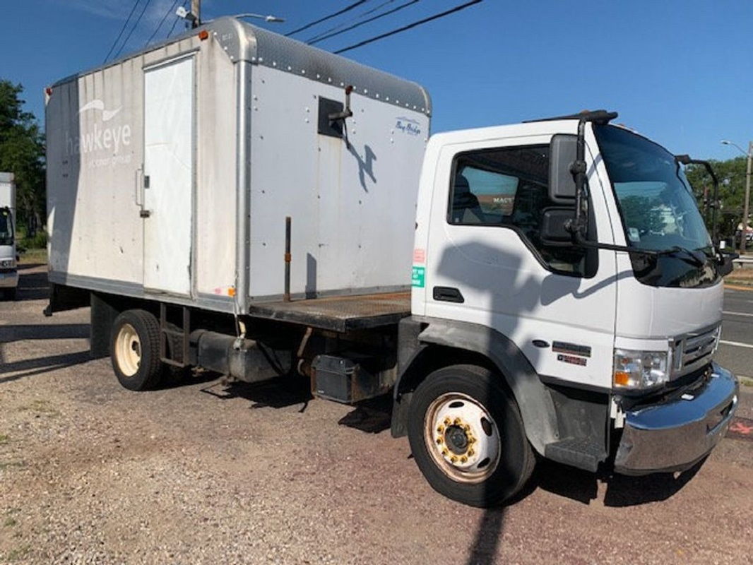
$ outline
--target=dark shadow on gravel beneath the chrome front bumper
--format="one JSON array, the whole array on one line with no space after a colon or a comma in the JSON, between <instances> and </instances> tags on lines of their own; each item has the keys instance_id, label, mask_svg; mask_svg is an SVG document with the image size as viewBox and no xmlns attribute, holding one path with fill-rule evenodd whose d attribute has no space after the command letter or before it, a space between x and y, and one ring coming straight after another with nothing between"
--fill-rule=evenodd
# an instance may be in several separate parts
<instances>
[{"instance_id":1,"label":"dark shadow on gravel beneath the chrome front bumper","mask_svg":"<svg viewBox=\"0 0 753 565\"><path fill-rule=\"evenodd\" d=\"M704 461L675 478L672 473L627 477L607 470L595 474L544 460L538 463L532 484L550 493L589 504L596 499L599 481L602 481L607 485L605 506L635 506L674 496L694 478Z\"/></svg>"}]
</instances>

